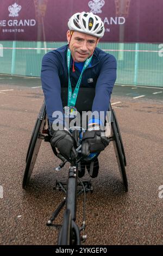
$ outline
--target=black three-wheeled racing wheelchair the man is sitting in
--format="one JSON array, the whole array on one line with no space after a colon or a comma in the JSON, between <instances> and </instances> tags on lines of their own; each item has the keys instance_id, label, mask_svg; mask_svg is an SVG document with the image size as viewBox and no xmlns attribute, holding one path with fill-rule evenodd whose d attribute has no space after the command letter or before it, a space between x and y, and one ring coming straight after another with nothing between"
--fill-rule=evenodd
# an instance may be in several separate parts
<instances>
[{"instance_id":1,"label":"black three-wheeled racing wheelchair the man is sitting in","mask_svg":"<svg viewBox=\"0 0 163 256\"><path fill-rule=\"evenodd\" d=\"M95 90L92 88L82 88L79 90L79 99L77 99L77 109L78 111L89 111L92 108L93 99L95 97ZM66 106L67 101L67 88L61 88L61 99L62 105ZM82 103L81 103L82 102ZM128 192L128 181L126 175L126 156L124 153L124 147L120 132L120 127L118 126L118 121L114 109L109 105L109 122L110 129L109 132L105 132L106 136L109 138L109 141L112 141L114 144L114 150L116 155L116 160L120 174L122 177L124 190ZM77 142L77 152L78 157L74 161L70 161L70 168L68 170L68 179L67 182L56 181L55 189L65 192L66 196L64 200L60 203L58 208L53 212L52 217L48 220L47 225L54 225L53 221L58 216L61 209L66 205L64 219L61 225L61 229L58 236L58 245L80 245L81 242L86 240L86 235L81 235L82 231L85 230L85 198L86 192L92 192L91 181L82 181L78 177L78 167L80 161L83 160L81 154L81 142L80 142L80 132L82 132L82 127L70 127L70 132L72 136L76 139ZM48 118L46 114L45 102L40 109L38 118L36 119L35 126L30 138L29 147L26 156L26 169L23 176L22 187L24 190L27 189L30 176L32 175L33 168L36 162L37 155L39 153L40 145L42 140L45 142L51 142L51 135L49 134L48 129ZM68 162L54 147L52 150L60 160L61 164L56 170L61 169L66 162ZM83 208L83 223L79 228L76 224L76 205L77 197L84 193L84 208Z\"/></svg>"}]
</instances>

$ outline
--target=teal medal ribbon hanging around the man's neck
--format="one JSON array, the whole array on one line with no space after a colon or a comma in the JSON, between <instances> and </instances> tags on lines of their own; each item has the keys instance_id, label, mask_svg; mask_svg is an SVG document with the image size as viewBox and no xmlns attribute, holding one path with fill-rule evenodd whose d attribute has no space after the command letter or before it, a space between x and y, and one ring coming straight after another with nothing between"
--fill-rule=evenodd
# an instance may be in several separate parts
<instances>
[{"instance_id":1,"label":"teal medal ribbon hanging around the man's neck","mask_svg":"<svg viewBox=\"0 0 163 256\"><path fill-rule=\"evenodd\" d=\"M92 55L93 56L93 55ZM80 83L82 81L82 75L84 70L87 68L87 66L90 64L92 56L90 58L87 58L85 60L85 64L83 67L83 70L79 76L76 88L74 89L74 92L72 94L72 87L71 87L71 81L70 81L70 59L71 59L71 51L68 48L67 50L67 68L68 68L68 107L70 106L75 106L76 105L76 101L77 101L77 96L78 96L78 92L79 92L79 87L80 87Z\"/></svg>"}]
</instances>

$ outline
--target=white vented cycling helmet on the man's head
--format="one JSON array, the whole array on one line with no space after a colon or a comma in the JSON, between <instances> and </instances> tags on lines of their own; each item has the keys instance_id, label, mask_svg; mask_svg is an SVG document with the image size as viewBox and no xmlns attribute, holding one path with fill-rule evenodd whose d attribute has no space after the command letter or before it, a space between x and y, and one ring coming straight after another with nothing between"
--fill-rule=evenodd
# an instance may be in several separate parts
<instances>
[{"instance_id":1,"label":"white vented cycling helmet on the man's head","mask_svg":"<svg viewBox=\"0 0 163 256\"><path fill-rule=\"evenodd\" d=\"M97 38L102 38L105 30L104 23L99 16L93 13L85 13L85 11L73 14L68 21L68 28Z\"/></svg>"}]
</instances>

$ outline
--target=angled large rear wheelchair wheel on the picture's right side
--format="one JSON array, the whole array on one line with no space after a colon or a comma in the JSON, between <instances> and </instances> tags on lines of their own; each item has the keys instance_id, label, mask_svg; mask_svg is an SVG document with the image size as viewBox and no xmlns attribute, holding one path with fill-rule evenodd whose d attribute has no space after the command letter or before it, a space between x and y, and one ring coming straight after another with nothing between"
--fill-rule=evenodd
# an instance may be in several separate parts
<instances>
[{"instance_id":1,"label":"angled large rear wheelchair wheel on the picture's right side","mask_svg":"<svg viewBox=\"0 0 163 256\"><path fill-rule=\"evenodd\" d=\"M113 112L113 114L115 115L115 112ZM125 191L128 192L128 181L127 181L126 169L125 169L125 164L124 164L124 155L123 155L121 142L120 142L120 133L118 133L116 121L112 122L111 126L112 126L112 131L114 133L114 141L112 141L112 142L114 145L118 168L120 170L120 174L121 174L121 177L123 180Z\"/></svg>"}]
</instances>

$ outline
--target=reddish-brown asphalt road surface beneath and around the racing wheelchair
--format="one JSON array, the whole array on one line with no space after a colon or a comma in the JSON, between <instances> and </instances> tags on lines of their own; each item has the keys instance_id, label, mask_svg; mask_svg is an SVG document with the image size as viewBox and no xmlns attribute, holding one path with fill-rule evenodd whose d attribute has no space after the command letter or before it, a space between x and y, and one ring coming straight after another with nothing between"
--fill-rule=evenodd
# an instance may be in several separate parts
<instances>
[{"instance_id":1,"label":"reddish-brown asphalt road surface beneath and around the racing wheelchair","mask_svg":"<svg viewBox=\"0 0 163 256\"><path fill-rule=\"evenodd\" d=\"M30 186L22 190L29 139L43 102L39 86L37 78L0 76L1 245L57 244L59 228L49 228L46 222L64 197L53 187L56 179L66 180L68 164L60 172L55 171L60 160L49 143L42 142ZM124 192L110 143L99 156L100 170L92 179L93 193L86 196L85 245L163 244L163 191L159 190L163 185L163 93L153 94L161 91L114 88L111 103L126 151L129 192ZM133 99L141 95L145 96ZM83 178L89 179L88 174ZM61 223L62 214L56 223ZM83 196L77 205L79 225L82 214Z\"/></svg>"}]
</instances>

